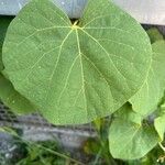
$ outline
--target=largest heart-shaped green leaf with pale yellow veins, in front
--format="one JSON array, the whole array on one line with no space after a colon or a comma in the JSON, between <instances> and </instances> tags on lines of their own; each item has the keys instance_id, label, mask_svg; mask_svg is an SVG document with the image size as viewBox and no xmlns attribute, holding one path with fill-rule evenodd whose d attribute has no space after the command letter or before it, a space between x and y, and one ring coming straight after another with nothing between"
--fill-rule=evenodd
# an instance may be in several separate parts
<instances>
[{"instance_id":1,"label":"largest heart-shaped green leaf with pale yellow veins, in front","mask_svg":"<svg viewBox=\"0 0 165 165\"><path fill-rule=\"evenodd\" d=\"M143 85L151 44L141 25L109 0L89 0L72 24L47 0L32 0L3 46L14 88L56 124L85 123L119 109Z\"/></svg>"}]
</instances>

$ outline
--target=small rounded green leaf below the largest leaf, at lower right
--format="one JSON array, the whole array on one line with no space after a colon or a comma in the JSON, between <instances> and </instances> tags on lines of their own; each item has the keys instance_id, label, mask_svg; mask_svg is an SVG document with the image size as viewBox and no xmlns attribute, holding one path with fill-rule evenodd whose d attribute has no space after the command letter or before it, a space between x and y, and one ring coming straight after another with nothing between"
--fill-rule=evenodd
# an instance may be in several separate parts
<instances>
[{"instance_id":1,"label":"small rounded green leaf below the largest leaf, at lower right","mask_svg":"<svg viewBox=\"0 0 165 165\"><path fill-rule=\"evenodd\" d=\"M125 114L125 108L123 111ZM134 118L132 118L133 116ZM109 131L110 153L114 158L141 158L160 141L154 128L144 123L140 124L139 114L133 112L131 108L128 109L128 118L122 118L122 116L116 118Z\"/></svg>"}]
</instances>

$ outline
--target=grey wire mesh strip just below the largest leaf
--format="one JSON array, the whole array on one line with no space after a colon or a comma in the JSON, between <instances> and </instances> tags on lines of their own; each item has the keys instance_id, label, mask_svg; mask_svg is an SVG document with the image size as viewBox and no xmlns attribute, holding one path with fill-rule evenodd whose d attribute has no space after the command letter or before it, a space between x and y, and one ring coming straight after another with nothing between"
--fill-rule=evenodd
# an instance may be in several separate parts
<instances>
[{"instance_id":1,"label":"grey wire mesh strip just below the largest leaf","mask_svg":"<svg viewBox=\"0 0 165 165\"><path fill-rule=\"evenodd\" d=\"M46 133L65 133L81 136L96 136L92 123L81 125L54 125L48 123L40 113L29 116L15 116L0 102L0 127L12 127L15 129L35 129Z\"/></svg>"}]
</instances>

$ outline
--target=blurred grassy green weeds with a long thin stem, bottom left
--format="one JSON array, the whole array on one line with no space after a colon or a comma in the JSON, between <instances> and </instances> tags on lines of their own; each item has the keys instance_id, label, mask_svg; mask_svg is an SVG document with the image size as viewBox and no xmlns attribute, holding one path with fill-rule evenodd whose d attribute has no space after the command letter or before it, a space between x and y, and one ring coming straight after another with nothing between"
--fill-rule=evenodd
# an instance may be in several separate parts
<instances>
[{"instance_id":1,"label":"blurred grassy green weeds with a long thin stem, bottom left","mask_svg":"<svg viewBox=\"0 0 165 165\"><path fill-rule=\"evenodd\" d=\"M57 141L28 141L20 135L16 130L12 128L0 128L0 132L8 133L13 136L13 141L21 145L23 151L22 157L12 160L11 165L85 165L84 163L76 161L69 156L69 154L63 154L62 147ZM10 161L9 161L10 163Z\"/></svg>"}]
</instances>

